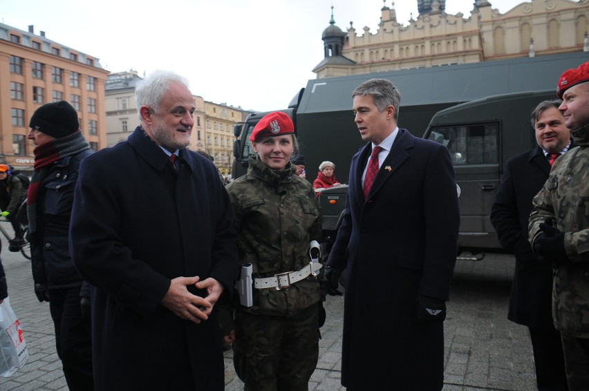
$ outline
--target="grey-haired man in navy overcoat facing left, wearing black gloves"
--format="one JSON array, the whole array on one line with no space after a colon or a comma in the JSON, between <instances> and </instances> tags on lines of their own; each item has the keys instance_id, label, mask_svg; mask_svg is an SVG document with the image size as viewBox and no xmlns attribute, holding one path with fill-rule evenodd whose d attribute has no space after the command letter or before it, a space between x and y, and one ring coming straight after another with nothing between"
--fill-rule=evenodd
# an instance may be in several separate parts
<instances>
[{"instance_id":1,"label":"grey-haired man in navy overcoat facing left, wearing black gloves","mask_svg":"<svg viewBox=\"0 0 589 391\"><path fill-rule=\"evenodd\" d=\"M344 221L326 264L333 288L346 269L342 385L441 390L460 225L450 154L398 128L401 96L389 80L368 80L352 97L368 144L352 158Z\"/></svg>"}]
</instances>

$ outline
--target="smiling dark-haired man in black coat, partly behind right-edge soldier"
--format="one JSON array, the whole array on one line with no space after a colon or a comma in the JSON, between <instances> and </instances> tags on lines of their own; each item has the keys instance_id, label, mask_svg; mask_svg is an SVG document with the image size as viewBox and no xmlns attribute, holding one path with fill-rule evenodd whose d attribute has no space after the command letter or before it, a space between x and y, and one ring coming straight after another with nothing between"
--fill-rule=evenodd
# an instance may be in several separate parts
<instances>
[{"instance_id":1,"label":"smiling dark-haired man in black coat, partly behind right-edge soldier","mask_svg":"<svg viewBox=\"0 0 589 391\"><path fill-rule=\"evenodd\" d=\"M561 335L552 323L552 265L539 260L527 240L532 199L550 173L550 162L570 149L561 101L541 102L532 111L538 146L510 159L491 209L501 245L516 257L507 318L530 330L538 390L568 390Z\"/></svg>"}]
</instances>

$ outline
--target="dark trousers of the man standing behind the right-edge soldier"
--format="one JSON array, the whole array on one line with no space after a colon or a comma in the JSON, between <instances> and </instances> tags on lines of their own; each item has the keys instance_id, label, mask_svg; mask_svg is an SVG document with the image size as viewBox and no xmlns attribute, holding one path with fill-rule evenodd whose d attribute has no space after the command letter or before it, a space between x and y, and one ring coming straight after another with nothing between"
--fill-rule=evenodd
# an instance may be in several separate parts
<instances>
[{"instance_id":1,"label":"dark trousers of the man standing behind the right-edge soldier","mask_svg":"<svg viewBox=\"0 0 589 391\"><path fill-rule=\"evenodd\" d=\"M561 333L552 328L532 329L532 349L539 391L568 391Z\"/></svg>"}]
</instances>

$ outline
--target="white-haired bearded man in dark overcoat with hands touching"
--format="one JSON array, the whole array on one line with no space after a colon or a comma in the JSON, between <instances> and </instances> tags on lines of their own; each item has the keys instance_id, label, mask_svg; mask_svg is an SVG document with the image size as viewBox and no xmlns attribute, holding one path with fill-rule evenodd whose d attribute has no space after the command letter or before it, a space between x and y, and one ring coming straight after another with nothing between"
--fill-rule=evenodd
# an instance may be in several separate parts
<instances>
[{"instance_id":1,"label":"white-haired bearded man in dark overcoat with hands touching","mask_svg":"<svg viewBox=\"0 0 589 391\"><path fill-rule=\"evenodd\" d=\"M194 98L156 71L135 90L140 126L80 169L71 220L92 285L97 390L223 390L214 305L239 271L230 200L189 151Z\"/></svg>"}]
</instances>

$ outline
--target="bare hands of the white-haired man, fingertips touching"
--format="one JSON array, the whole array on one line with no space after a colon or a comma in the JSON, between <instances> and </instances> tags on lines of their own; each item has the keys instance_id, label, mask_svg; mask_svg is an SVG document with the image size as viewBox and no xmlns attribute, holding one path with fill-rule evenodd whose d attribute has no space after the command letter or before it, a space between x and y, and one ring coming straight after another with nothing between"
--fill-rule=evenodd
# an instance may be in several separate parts
<instances>
[{"instance_id":1,"label":"bare hands of the white-haired man, fingertips touching","mask_svg":"<svg viewBox=\"0 0 589 391\"><path fill-rule=\"evenodd\" d=\"M207 296L200 297L188 292L187 286L194 285L197 289L206 289ZM200 277L176 277L171 280L162 305L177 316L194 323L206 321L211 314L218 298L223 293L223 285L214 278L200 281Z\"/></svg>"}]
</instances>

